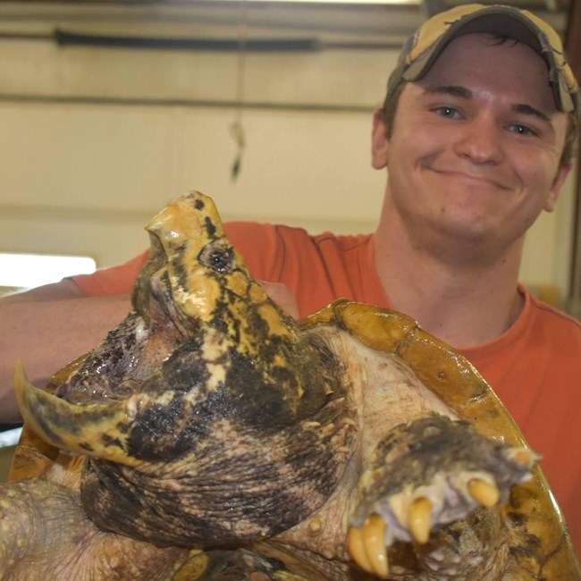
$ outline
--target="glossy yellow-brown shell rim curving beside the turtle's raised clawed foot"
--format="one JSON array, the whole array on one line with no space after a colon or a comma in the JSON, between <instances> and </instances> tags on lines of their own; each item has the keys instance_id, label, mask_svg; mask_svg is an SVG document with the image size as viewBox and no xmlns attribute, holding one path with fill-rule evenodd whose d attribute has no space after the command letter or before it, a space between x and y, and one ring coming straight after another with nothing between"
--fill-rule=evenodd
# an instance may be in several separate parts
<instances>
[{"instance_id":1,"label":"glossy yellow-brown shell rim curving beside the turtle's raised clawed foot","mask_svg":"<svg viewBox=\"0 0 581 581\"><path fill-rule=\"evenodd\" d=\"M304 329L317 325L333 325L370 349L393 354L478 432L528 449L518 425L476 368L456 349L426 333L411 317L339 300L301 323ZM566 523L538 464L532 468L530 479L511 489L502 511L516 558L515 572L502 578L581 578Z\"/></svg>"}]
</instances>

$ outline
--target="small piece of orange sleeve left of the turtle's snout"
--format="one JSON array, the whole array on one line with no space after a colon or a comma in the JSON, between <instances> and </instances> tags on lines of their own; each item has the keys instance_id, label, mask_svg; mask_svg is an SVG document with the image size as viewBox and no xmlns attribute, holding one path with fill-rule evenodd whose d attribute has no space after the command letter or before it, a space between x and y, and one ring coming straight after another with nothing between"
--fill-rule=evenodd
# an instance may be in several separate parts
<instances>
[{"instance_id":1,"label":"small piece of orange sleeve left of the turtle's snout","mask_svg":"<svg viewBox=\"0 0 581 581\"><path fill-rule=\"evenodd\" d=\"M71 278L88 297L127 294L148 255L147 249L122 265L100 268L93 274L77 274Z\"/></svg>"}]
</instances>

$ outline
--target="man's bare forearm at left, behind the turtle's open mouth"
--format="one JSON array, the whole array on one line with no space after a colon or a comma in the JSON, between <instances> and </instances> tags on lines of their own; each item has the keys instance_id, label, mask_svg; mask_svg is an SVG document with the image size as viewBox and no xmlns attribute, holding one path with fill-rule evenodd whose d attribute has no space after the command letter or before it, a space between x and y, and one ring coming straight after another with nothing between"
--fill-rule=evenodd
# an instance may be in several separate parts
<instances>
[{"instance_id":1,"label":"man's bare forearm at left, behind the turtle's open mouth","mask_svg":"<svg viewBox=\"0 0 581 581\"><path fill-rule=\"evenodd\" d=\"M93 349L129 309L128 295L86 297L70 280L0 299L0 424L20 420L13 394L16 359L29 381L42 387Z\"/></svg>"}]
</instances>

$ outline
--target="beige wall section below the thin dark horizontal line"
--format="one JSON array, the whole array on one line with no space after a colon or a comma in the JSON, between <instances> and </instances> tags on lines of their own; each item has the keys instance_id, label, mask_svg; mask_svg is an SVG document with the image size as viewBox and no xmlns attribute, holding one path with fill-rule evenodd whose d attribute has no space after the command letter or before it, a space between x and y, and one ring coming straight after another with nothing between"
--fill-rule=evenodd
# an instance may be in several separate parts
<instances>
[{"instance_id":1,"label":"beige wall section below the thin dark horizontal line","mask_svg":"<svg viewBox=\"0 0 581 581\"><path fill-rule=\"evenodd\" d=\"M248 111L239 179L228 110L0 104L0 250L87 253L111 265L147 246L142 226L189 189L224 218L373 228L383 175L369 114Z\"/></svg>"}]
</instances>

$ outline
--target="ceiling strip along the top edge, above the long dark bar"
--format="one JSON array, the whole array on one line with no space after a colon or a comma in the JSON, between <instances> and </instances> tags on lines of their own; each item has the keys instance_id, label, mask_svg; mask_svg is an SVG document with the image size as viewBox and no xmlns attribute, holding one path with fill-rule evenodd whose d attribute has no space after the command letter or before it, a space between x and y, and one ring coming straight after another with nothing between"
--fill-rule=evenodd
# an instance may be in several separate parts
<instances>
[{"instance_id":1,"label":"ceiling strip along the top edge, above the long dark bar","mask_svg":"<svg viewBox=\"0 0 581 581\"><path fill-rule=\"evenodd\" d=\"M504 0L549 21L561 35L567 32L574 0ZM114 33L140 22L157 33L183 35L190 30L212 36L243 24L258 36L296 37L309 34L323 41L360 41L400 46L426 16L442 12L457 0L402 0L390 4L332 2L269 2L257 0L54 0L0 1L0 38L38 34L51 27L109 25ZM484 0L483 4L493 4ZM218 32L219 29L219 32Z\"/></svg>"}]
</instances>

